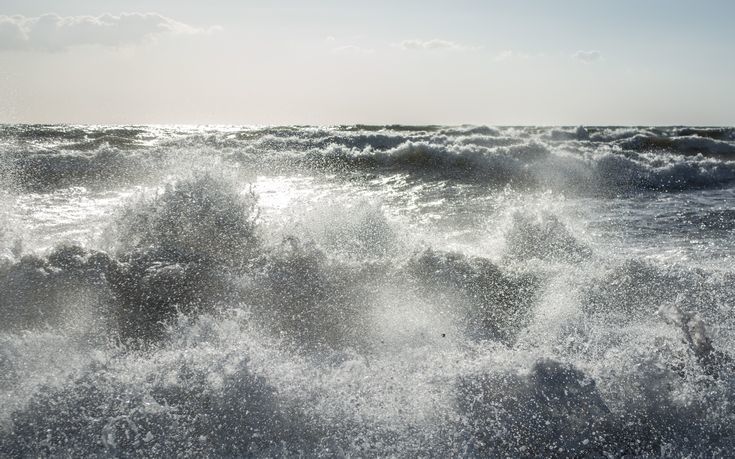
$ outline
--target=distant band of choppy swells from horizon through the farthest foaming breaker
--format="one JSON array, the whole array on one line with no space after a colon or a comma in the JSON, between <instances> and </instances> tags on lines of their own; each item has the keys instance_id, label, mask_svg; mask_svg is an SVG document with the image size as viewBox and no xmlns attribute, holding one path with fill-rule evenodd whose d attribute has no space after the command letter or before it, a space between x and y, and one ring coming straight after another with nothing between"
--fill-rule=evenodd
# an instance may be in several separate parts
<instances>
[{"instance_id":1,"label":"distant band of choppy swells from horizon through the farthest foaming breaker","mask_svg":"<svg viewBox=\"0 0 735 459\"><path fill-rule=\"evenodd\" d=\"M6 126L6 183L31 191L135 184L184 159L255 173L405 174L606 195L735 181L731 128Z\"/></svg>"}]
</instances>

